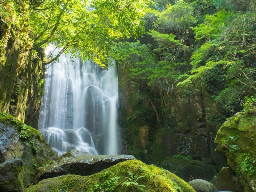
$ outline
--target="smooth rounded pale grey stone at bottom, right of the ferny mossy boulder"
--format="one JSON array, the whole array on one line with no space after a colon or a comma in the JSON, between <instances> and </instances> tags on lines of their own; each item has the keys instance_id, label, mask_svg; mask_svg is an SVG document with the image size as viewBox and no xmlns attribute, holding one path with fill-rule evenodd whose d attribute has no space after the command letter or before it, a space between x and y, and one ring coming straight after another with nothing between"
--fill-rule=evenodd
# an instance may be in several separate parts
<instances>
[{"instance_id":1,"label":"smooth rounded pale grey stone at bottom, right of the ferny mossy boulder","mask_svg":"<svg viewBox=\"0 0 256 192\"><path fill-rule=\"evenodd\" d=\"M218 189L210 182L202 179L196 179L188 182L196 192L216 192Z\"/></svg>"}]
</instances>

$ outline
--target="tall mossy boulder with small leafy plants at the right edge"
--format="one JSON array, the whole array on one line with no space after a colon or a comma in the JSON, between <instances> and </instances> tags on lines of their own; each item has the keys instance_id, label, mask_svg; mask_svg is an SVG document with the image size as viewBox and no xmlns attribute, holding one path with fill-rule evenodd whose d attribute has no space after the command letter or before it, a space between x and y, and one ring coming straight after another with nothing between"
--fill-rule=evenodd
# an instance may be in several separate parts
<instances>
[{"instance_id":1,"label":"tall mossy boulder with small leafy plants at the right edge","mask_svg":"<svg viewBox=\"0 0 256 192\"><path fill-rule=\"evenodd\" d=\"M256 117L238 112L217 133L216 150L227 158L244 191L256 191Z\"/></svg>"}]
</instances>

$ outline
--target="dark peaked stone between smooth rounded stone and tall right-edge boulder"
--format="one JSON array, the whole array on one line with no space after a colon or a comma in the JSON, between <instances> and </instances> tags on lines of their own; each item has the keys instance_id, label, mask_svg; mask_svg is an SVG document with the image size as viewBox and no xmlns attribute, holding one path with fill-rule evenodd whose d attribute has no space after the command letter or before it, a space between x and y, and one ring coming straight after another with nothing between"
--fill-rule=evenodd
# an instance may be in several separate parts
<instances>
[{"instance_id":1,"label":"dark peaked stone between smooth rounded stone and tall right-edge boulder","mask_svg":"<svg viewBox=\"0 0 256 192\"><path fill-rule=\"evenodd\" d=\"M243 192L236 173L229 167L223 167L221 171L214 176L211 183L219 190L228 190L233 192Z\"/></svg>"}]
</instances>

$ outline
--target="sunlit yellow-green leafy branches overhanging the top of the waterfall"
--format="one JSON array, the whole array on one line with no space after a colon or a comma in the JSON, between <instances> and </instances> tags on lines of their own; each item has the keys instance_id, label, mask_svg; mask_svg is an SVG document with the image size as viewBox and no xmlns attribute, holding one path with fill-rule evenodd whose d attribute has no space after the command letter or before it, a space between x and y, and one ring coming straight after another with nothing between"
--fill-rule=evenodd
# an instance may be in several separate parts
<instances>
[{"instance_id":1,"label":"sunlit yellow-green leafy branches overhanging the top of the waterfall","mask_svg":"<svg viewBox=\"0 0 256 192\"><path fill-rule=\"evenodd\" d=\"M31 1L30 25L34 46L61 48L44 65L72 52L92 58L101 67L118 38L143 33L143 10L148 0L43 0Z\"/></svg>"}]
</instances>

